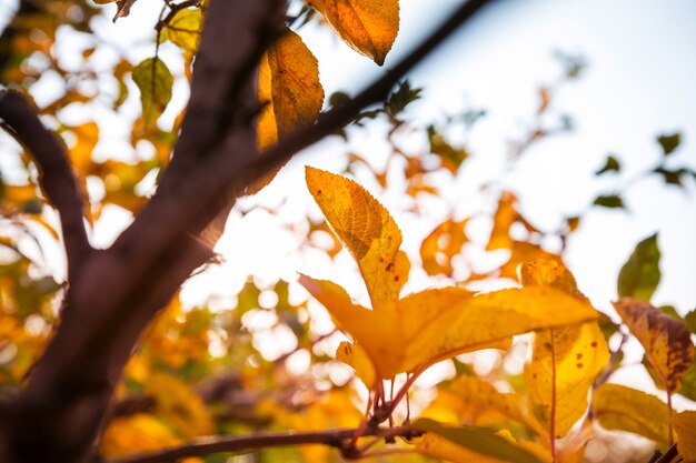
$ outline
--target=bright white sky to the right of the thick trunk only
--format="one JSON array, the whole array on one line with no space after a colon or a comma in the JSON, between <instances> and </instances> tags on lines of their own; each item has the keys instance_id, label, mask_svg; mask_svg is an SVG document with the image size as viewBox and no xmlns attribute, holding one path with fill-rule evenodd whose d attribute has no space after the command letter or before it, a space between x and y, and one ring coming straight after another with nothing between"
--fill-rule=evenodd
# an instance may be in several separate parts
<instances>
[{"instance_id":1,"label":"bright white sky to the right of the thick trunk only","mask_svg":"<svg viewBox=\"0 0 696 463\"><path fill-rule=\"evenodd\" d=\"M439 24L458 2L440 1L437 10L432 4L417 0L401 2L401 34L386 67L410 50L427 28ZM471 174L499 172L507 140L528 123L536 109L537 85L551 81L558 73L553 50L580 53L589 67L556 101L559 110L574 118L576 131L536 145L505 180L518 192L525 212L535 223L554 228L559 217L580 212L597 193L610 192L615 184L654 165L660 157L654 141L659 133L682 131L683 148L674 154L672 165L695 167L692 140L696 134L693 85L696 61L688 46L696 43L693 18L696 18L696 4L686 0L659 8L650 1L496 2L410 77L415 84L426 89L426 97L415 111L424 121L463 108L488 111L471 137L473 165L469 170L465 168L463 181L448 193L450 201L467 204L464 210L477 209L481 201L477 188L481 182L471 178L469 171ZM329 32L306 28L302 34L319 58L327 94L339 89L355 91L380 73L369 60L332 40ZM351 148L368 158L374 155L377 164L385 150L384 143L369 135L354 141ZM342 161L332 154L334 150L346 149L324 143L300 157L261 200L271 198L276 190L292 191L297 198L291 200L301 203L310 201L301 165L340 169ZM616 153L626 172L618 179L609 175L595 180L591 173L609 152ZM688 193L684 193L664 188L653 179L646 180L632 188L626 197L632 213L594 210L586 215L570 242L568 261L581 289L599 306L607 308L608 301L616 296L618 269L634 245L655 231L660 232L665 273L655 301L673 303L682 312L696 305L696 289L692 284L696 272L696 244L692 238L696 235L696 190L693 182L689 187ZM434 209L431 222L405 223L396 213L402 205L400 199L377 194L395 211L410 251L417 249L419 240L445 213ZM407 221L408 217L404 215L402 220ZM298 266L302 268L302 262L284 261L287 250L282 246L282 234L262 240L253 227L243 234L247 223L255 221L264 223L262 218L247 217L239 222L233 219L230 223L233 231L219 245L229 253L230 266L220 269L228 276L220 275L227 284L239 271L235 270L239 269L237 262L261 272L277 269L285 278L292 278ZM272 233L270 228L267 230ZM312 263L322 272L331 272L325 262ZM350 266L351 262L341 264ZM287 271L281 271L286 265Z\"/></svg>"}]
</instances>

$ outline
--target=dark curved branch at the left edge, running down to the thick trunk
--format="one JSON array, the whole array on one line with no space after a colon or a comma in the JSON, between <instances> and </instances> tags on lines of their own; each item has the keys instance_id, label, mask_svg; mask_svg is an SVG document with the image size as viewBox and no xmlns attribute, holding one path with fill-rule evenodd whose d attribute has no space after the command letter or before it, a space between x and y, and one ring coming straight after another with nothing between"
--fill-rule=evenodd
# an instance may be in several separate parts
<instances>
[{"instance_id":1,"label":"dark curved branch at the left edge, running down to the thick trunk","mask_svg":"<svg viewBox=\"0 0 696 463\"><path fill-rule=\"evenodd\" d=\"M91 248L84 229L84 203L68 162L68 153L58 137L43 127L37 109L20 92L0 92L0 118L8 132L31 153L39 168L41 188L60 214L71 275Z\"/></svg>"}]
</instances>

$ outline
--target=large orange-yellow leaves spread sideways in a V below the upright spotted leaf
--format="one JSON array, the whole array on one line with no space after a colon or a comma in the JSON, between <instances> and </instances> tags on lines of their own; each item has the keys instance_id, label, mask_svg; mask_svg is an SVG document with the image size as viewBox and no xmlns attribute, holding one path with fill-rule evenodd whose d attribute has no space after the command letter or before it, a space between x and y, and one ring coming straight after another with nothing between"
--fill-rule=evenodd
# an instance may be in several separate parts
<instances>
[{"instance_id":1,"label":"large orange-yellow leaves spread sideways in a V below the upright spotted leaf","mask_svg":"<svg viewBox=\"0 0 696 463\"><path fill-rule=\"evenodd\" d=\"M427 290L399 301L396 311L370 311L354 304L335 283L306 275L300 283L360 344L385 380L464 352L506 349L515 334L598 316L589 304L548 288L477 295L459 288ZM344 358L351 359L348 353Z\"/></svg>"}]
</instances>

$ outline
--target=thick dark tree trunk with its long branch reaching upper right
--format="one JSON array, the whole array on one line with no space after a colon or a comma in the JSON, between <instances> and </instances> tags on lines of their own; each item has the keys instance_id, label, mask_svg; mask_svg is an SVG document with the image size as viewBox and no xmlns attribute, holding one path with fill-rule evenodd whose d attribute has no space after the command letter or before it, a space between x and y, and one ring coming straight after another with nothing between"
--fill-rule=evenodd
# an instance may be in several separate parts
<instances>
[{"instance_id":1,"label":"thick dark tree trunk with its long branch reaching upper right","mask_svg":"<svg viewBox=\"0 0 696 463\"><path fill-rule=\"evenodd\" d=\"M407 71L485 3L466 3L382 79L327 112L316 124L258 155L252 120L252 104L258 103L252 101L255 92L249 88L256 79L256 63L268 46L264 41L272 39L275 18L285 2L210 0L203 37L212 34L226 41L217 41L219 51L210 57L213 64L197 67L195 74L211 72L216 87L206 88L205 76L199 78L199 85L207 92L192 93L191 122L182 129L157 193L113 246L90 253L80 266L68 293L69 310L63 312L56 336L12 411L7 441L10 454L24 462L80 461L93 442L140 333L190 272L210 255L210 250L191 236L197 236L226 207L230 191L241 193L278 163L349 123L365 107L385 99ZM230 28L230 21L239 29ZM207 32L216 28L220 36ZM256 38L264 46L239 38ZM225 62L223 56L232 51L235 62ZM195 122L197 118L199 123ZM209 132L209 128L215 131ZM207 133L212 144L203 138ZM71 210L81 212L80 208Z\"/></svg>"}]
</instances>

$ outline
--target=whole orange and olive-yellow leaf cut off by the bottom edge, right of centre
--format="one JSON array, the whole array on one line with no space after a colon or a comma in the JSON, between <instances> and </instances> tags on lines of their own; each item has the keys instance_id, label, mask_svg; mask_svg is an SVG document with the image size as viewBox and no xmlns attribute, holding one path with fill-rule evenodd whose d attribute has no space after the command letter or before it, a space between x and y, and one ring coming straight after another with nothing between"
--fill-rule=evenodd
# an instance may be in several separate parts
<instances>
[{"instance_id":1,"label":"whole orange and olive-yellow leaf cut off by the bottom edge, right of centre","mask_svg":"<svg viewBox=\"0 0 696 463\"><path fill-rule=\"evenodd\" d=\"M428 419L416 421L412 427L426 431L426 435L417 446L418 451L426 455L461 463L471 461L540 463L543 461L508 439L497 435L495 431L485 427L454 427ZM436 437L441 437L441 440ZM446 442L455 446L446 445Z\"/></svg>"}]
</instances>

